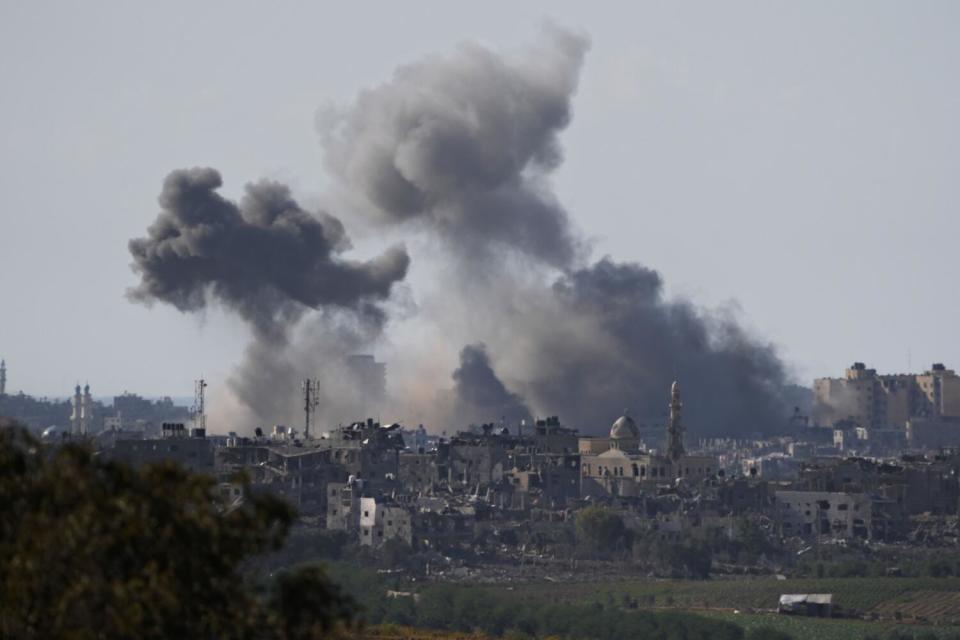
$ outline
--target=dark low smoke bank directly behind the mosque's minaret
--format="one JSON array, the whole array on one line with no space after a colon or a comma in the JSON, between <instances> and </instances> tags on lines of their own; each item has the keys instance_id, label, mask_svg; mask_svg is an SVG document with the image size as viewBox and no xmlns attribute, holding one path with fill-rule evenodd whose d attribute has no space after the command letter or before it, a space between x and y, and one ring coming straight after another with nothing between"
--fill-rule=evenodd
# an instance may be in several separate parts
<instances>
[{"instance_id":1,"label":"dark low smoke bank directly behind the mosque's minaret","mask_svg":"<svg viewBox=\"0 0 960 640\"><path fill-rule=\"evenodd\" d=\"M604 258L552 287L559 322L579 340L534 332L526 390L570 424L602 432L626 407L662 423L670 384L682 380L685 417L699 435L770 432L784 424L784 367L773 347L725 314L666 300L660 275Z\"/></svg>"}]
</instances>

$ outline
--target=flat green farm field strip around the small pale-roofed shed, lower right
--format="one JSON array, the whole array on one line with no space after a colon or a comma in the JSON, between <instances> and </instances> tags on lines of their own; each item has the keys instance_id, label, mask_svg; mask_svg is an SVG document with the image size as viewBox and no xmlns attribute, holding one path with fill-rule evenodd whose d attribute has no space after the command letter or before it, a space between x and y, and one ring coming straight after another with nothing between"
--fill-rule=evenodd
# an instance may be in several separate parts
<instances>
[{"instance_id":1,"label":"flat green farm field strip around the small pale-roofed shed, lower right","mask_svg":"<svg viewBox=\"0 0 960 640\"><path fill-rule=\"evenodd\" d=\"M840 612L960 624L960 578L625 580L515 587L522 597L640 608L774 610L783 593L832 593Z\"/></svg>"}]
</instances>

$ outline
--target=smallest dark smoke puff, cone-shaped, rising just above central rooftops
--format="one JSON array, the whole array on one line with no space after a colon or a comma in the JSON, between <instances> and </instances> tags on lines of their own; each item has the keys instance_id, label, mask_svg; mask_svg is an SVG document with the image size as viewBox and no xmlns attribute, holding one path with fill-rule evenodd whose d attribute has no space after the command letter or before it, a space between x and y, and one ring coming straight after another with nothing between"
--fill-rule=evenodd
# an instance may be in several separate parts
<instances>
[{"instance_id":1,"label":"smallest dark smoke puff, cone-shaped, rising just above central rooftops","mask_svg":"<svg viewBox=\"0 0 960 640\"><path fill-rule=\"evenodd\" d=\"M494 373L483 343L467 345L460 351L460 366L453 372L456 416L463 423L510 424L530 420L530 410L520 396L511 393Z\"/></svg>"}]
</instances>

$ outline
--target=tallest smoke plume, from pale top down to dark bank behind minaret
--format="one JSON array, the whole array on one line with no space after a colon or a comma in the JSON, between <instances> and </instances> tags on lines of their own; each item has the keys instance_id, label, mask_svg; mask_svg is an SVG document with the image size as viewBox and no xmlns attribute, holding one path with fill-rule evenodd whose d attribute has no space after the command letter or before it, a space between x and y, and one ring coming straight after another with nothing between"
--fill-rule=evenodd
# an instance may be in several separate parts
<instances>
[{"instance_id":1,"label":"tallest smoke plume, from pale top down to dark bank behind minaret","mask_svg":"<svg viewBox=\"0 0 960 640\"><path fill-rule=\"evenodd\" d=\"M321 118L326 166L374 224L447 249L430 321L486 344L454 374L474 415L529 406L601 433L629 407L662 422L677 377L691 432L775 431L786 375L773 347L729 313L665 299L655 271L590 264L550 191L587 47L548 29L524 54L468 45L401 67Z\"/></svg>"}]
</instances>

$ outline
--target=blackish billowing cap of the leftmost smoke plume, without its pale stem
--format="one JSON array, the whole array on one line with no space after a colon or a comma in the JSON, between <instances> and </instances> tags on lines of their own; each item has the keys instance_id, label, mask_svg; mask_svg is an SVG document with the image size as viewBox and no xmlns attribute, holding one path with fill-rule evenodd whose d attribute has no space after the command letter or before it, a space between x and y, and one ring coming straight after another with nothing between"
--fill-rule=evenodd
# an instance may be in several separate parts
<instances>
[{"instance_id":1,"label":"blackish billowing cap of the leftmost smoke plume, without its pale stem","mask_svg":"<svg viewBox=\"0 0 960 640\"><path fill-rule=\"evenodd\" d=\"M159 300L181 311L202 309L210 297L246 319L260 338L282 338L307 308L335 306L379 317L407 272L401 247L367 262L339 254L350 242L339 220L304 211L287 187L246 186L239 206L217 193L214 169L170 173L161 213L146 238L130 241L140 284L134 300Z\"/></svg>"}]
</instances>

